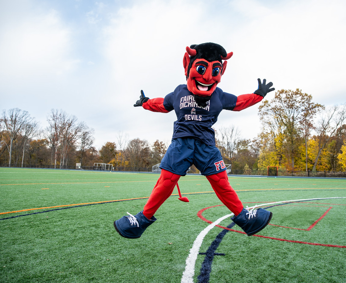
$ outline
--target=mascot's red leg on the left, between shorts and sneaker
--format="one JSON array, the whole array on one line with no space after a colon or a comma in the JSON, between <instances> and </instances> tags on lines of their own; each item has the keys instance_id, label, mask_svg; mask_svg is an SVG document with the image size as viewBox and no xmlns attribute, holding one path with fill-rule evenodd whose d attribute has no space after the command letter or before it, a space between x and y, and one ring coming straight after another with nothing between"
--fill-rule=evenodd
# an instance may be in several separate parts
<instances>
[{"instance_id":1,"label":"mascot's red leg on the left, between shorts and sneaker","mask_svg":"<svg viewBox=\"0 0 346 283\"><path fill-rule=\"evenodd\" d=\"M156 185L144 206L143 214L146 218L151 219L156 210L166 199L169 198L179 178L180 175L162 169L160 178L158 178Z\"/></svg>"}]
</instances>

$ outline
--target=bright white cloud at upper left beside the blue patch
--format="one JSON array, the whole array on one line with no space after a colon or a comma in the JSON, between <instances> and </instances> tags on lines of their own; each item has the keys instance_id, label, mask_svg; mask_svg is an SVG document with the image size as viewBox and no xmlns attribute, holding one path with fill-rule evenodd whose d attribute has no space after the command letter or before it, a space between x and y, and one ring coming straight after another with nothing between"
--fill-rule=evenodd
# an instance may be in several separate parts
<instances>
[{"instance_id":1,"label":"bright white cloud at upper left beside the blue patch","mask_svg":"<svg viewBox=\"0 0 346 283\"><path fill-rule=\"evenodd\" d=\"M71 30L53 9L21 10L1 29L0 41L0 75L12 83L60 75L79 63L69 56Z\"/></svg>"}]
</instances>

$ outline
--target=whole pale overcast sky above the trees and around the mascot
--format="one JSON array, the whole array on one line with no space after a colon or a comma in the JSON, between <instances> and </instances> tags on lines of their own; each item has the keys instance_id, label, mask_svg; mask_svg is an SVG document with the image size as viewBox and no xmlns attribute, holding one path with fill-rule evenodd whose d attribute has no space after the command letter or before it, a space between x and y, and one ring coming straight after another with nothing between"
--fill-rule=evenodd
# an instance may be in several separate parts
<instances>
[{"instance_id":1,"label":"whole pale overcast sky above the trees and around the mascot","mask_svg":"<svg viewBox=\"0 0 346 283\"><path fill-rule=\"evenodd\" d=\"M0 0L0 110L26 110L44 128L62 109L95 129L97 149L119 132L169 143L174 111L133 104L141 89L164 97L186 83L185 47L204 42L234 52L225 92L252 93L265 78L345 103L345 10L344 0ZM256 137L258 106L224 110L214 128L231 125Z\"/></svg>"}]
</instances>

